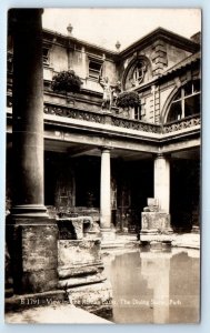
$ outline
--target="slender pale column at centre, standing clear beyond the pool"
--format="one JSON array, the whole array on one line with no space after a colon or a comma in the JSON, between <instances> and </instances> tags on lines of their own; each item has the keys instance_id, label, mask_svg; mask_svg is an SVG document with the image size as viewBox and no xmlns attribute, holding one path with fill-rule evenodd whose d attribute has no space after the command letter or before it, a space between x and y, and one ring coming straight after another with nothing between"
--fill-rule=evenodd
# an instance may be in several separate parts
<instances>
[{"instance_id":1,"label":"slender pale column at centre, standing clear beyond the pool","mask_svg":"<svg viewBox=\"0 0 210 333\"><path fill-rule=\"evenodd\" d=\"M100 228L102 239L111 238L111 171L110 150L101 151Z\"/></svg>"}]
</instances>

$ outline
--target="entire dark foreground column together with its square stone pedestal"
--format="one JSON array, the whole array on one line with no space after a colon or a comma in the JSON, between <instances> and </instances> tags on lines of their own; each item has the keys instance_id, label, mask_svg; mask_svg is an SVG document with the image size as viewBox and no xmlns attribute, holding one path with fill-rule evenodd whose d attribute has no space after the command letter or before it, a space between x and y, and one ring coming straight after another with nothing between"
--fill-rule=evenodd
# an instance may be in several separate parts
<instances>
[{"instance_id":1,"label":"entire dark foreground column together with its square stone pedestal","mask_svg":"<svg viewBox=\"0 0 210 333\"><path fill-rule=\"evenodd\" d=\"M43 204L41 9L12 9L13 198L7 221L14 293L57 287L58 228Z\"/></svg>"}]
</instances>

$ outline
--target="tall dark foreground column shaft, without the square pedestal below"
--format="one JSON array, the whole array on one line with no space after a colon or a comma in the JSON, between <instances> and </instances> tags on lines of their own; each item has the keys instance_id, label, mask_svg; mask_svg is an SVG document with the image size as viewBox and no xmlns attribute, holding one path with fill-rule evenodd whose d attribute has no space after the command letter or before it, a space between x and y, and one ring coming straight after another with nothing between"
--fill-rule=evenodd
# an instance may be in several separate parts
<instances>
[{"instance_id":1,"label":"tall dark foreground column shaft, without the square pedestal below","mask_svg":"<svg viewBox=\"0 0 210 333\"><path fill-rule=\"evenodd\" d=\"M41 9L13 10L13 215L47 216L43 205Z\"/></svg>"}]
</instances>

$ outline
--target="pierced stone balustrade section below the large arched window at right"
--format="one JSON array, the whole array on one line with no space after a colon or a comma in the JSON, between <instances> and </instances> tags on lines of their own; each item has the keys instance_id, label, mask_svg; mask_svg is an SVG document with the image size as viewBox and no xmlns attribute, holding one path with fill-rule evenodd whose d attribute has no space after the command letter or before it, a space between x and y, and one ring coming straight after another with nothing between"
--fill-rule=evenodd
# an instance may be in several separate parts
<instances>
[{"instance_id":1,"label":"pierced stone balustrade section below the large arched window at right","mask_svg":"<svg viewBox=\"0 0 210 333\"><path fill-rule=\"evenodd\" d=\"M162 133L171 133L171 132L181 131L184 129L193 128L196 125L200 125L200 123L201 123L200 113L197 113L197 114L189 115L183 119L176 120L173 122L163 124Z\"/></svg>"}]
</instances>

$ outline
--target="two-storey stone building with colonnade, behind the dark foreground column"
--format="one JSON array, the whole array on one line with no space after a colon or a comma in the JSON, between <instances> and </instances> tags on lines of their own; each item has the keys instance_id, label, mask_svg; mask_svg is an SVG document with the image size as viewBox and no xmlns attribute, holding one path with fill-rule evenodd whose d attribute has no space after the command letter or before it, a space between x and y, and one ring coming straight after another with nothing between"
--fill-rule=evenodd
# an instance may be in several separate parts
<instances>
[{"instance_id":1,"label":"two-storey stone building with colonnade, behind the dark foreground column","mask_svg":"<svg viewBox=\"0 0 210 333\"><path fill-rule=\"evenodd\" d=\"M148 198L174 231L199 224L200 44L158 28L122 51L43 30L44 204L137 232ZM74 70L80 93L54 92ZM100 78L136 91L138 108L102 110ZM42 84L40 82L40 84ZM12 189L12 37L8 42L7 199ZM106 193L106 194L104 194ZM108 202L107 202L108 201ZM110 224L111 223L111 224ZM103 223L102 223L103 224Z\"/></svg>"}]
</instances>

